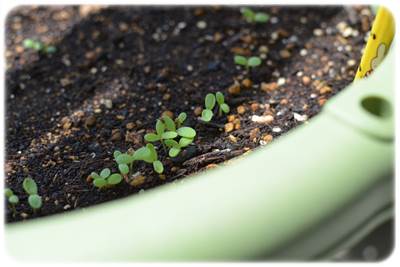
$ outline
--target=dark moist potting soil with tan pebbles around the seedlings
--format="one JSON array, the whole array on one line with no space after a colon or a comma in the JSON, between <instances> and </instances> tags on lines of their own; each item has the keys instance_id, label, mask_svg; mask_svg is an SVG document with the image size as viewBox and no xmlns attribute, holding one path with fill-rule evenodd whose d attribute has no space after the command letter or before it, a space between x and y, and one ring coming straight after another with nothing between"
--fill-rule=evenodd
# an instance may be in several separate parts
<instances>
[{"instance_id":1,"label":"dark moist potting soil with tan pebbles around the seedlings","mask_svg":"<svg viewBox=\"0 0 400 267\"><path fill-rule=\"evenodd\" d=\"M253 9L268 22L246 22L240 7L14 9L6 23L5 172L20 203L15 213L6 203L6 220L87 207L212 169L306 124L352 82L368 8ZM57 51L24 48L25 38ZM246 70L235 54L262 64ZM229 115L200 123L205 95L217 91ZM174 159L157 145L162 175L138 163L131 184L99 190L87 180L92 171L116 170L113 151L143 146L163 113L183 111L197 137ZM36 212L22 189L28 176L43 199Z\"/></svg>"}]
</instances>

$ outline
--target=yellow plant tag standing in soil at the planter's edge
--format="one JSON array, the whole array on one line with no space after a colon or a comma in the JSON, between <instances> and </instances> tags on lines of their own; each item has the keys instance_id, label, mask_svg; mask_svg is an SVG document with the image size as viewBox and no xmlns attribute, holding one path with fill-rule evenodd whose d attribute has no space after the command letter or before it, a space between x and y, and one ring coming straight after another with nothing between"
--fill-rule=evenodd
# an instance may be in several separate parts
<instances>
[{"instance_id":1,"label":"yellow plant tag standing in soil at the planter's edge","mask_svg":"<svg viewBox=\"0 0 400 267\"><path fill-rule=\"evenodd\" d=\"M394 19L385 7L379 7L368 37L355 80L367 77L381 63L394 36Z\"/></svg>"}]
</instances>

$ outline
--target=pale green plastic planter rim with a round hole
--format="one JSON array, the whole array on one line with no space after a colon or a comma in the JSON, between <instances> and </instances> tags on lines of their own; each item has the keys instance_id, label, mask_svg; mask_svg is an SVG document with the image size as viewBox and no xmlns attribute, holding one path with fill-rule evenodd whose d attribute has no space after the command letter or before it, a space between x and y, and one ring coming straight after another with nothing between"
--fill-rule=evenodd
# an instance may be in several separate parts
<instances>
[{"instance_id":1,"label":"pale green plastic planter rim with a round hole","mask_svg":"<svg viewBox=\"0 0 400 267\"><path fill-rule=\"evenodd\" d=\"M8 252L39 261L329 259L392 216L393 66L391 51L309 123L226 167L7 225Z\"/></svg>"}]
</instances>

